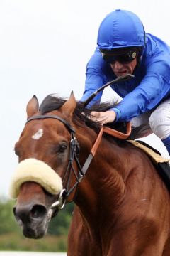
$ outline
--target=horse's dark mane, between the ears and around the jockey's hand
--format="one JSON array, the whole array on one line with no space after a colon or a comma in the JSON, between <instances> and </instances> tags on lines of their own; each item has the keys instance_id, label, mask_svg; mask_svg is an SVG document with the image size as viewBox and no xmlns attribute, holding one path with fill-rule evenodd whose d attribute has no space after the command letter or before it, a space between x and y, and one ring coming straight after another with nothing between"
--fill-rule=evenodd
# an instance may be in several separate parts
<instances>
[{"instance_id":1,"label":"horse's dark mane, between the ears and around the jockey's hand","mask_svg":"<svg viewBox=\"0 0 170 256\"><path fill-rule=\"evenodd\" d=\"M63 97L57 97L53 95L47 95L45 99L42 101L40 105L41 114L46 114L47 112L51 112L53 110L59 110L62 105L64 105L66 99ZM74 110L74 122L76 124L86 124L86 126L91 127L96 132L100 129L100 124L98 122L94 122L91 120L91 111L106 111L114 107L115 103L112 102L102 102L100 104L93 105L91 107L84 107L82 102L77 102L77 107ZM125 125L123 123L113 123L107 124L108 127L113 129L118 129L123 131L125 129ZM124 128L123 128L124 127Z\"/></svg>"}]
</instances>

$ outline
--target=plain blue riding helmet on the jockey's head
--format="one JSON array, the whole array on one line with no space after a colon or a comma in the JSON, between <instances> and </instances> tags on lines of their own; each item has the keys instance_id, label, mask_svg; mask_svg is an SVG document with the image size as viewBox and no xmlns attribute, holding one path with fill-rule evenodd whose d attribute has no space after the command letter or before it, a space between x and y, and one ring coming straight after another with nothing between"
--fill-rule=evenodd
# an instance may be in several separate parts
<instances>
[{"instance_id":1,"label":"plain blue riding helmet on the jockey's head","mask_svg":"<svg viewBox=\"0 0 170 256\"><path fill-rule=\"evenodd\" d=\"M106 16L98 29L100 50L145 46L145 29L140 18L131 11L117 9Z\"/></svg>"}]
</instances>

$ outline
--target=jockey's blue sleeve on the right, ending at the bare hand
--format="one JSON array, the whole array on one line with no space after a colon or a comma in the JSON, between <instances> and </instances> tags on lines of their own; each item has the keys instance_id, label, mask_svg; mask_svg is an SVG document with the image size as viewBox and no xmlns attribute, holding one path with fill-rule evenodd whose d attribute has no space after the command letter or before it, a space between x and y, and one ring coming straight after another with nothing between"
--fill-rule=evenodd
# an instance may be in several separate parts
<instances>
[{"instance_id":1,"label":"jockey's blue sleeve on the right, ending at the bare hand","mask_svg":"<svg viewBox=\"0 0 170 256\"><path fill-rule=\"evenodd\" d=\"M169 56L166 55L166 58ZM170 65L157 60L148 65L147 74L132 92L128 93L115 107L116 121L130 121L143 112L156 107L164 97L170 94ZM155 72L157 71L157 73Z\"/></svg>"}]
</instances>

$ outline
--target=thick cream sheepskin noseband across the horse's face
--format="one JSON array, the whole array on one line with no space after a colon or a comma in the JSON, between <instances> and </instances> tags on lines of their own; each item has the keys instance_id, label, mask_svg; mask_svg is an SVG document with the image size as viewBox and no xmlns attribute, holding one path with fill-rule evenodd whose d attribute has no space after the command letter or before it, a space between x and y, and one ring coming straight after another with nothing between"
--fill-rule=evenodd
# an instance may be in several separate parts
<instances>
[{"instance_id":1,"label":"thick cream sheepskin noseband across the horse's face","mask_svg":"<svg viewBox=\"0 0 170 256\"><path fill-rule=\"evenodd\" d=\"M45 162L37 159L26 159L18 164L11 181L11 198L17 198L21 185L26 181L35 181L52 195L62 191L60 176Z\"/></svg>"}]
</instances>

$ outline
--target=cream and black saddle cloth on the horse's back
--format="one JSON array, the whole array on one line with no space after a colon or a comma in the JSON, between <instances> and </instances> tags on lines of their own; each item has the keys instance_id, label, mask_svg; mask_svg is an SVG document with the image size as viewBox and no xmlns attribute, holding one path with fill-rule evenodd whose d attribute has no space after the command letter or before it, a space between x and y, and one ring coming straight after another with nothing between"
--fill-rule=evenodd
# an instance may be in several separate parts
<instances>
[{"instance_id":1,"label":"cream and black saddle cloth on the horse's back","mask_svg":"<svg viewBox=\"0 0 170 256\"><path fill-rule=\"evenodd\" d=\"M167 188L170 190L170 159L165 159L162 157L157 150L152 149L152 147L147 145L145 142L137 142L134 140L128 140L128 142L145 151L145 153L152 160Z\"/></svg>"}]
</instances>

